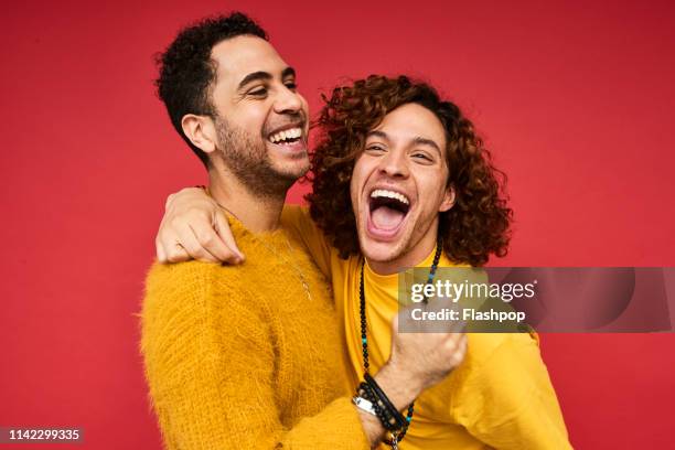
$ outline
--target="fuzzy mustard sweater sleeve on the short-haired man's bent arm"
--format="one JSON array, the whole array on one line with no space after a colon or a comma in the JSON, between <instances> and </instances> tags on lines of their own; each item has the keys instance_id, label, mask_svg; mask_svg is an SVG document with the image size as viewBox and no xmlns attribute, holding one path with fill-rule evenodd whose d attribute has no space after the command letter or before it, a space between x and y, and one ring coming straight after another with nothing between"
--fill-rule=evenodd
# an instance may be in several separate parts
<instances>
[{"instance_id":1,"label":"fuzzy mustard sweater sleeve on the short-haired man's bent arm","mask_svg":"<svg viewBox=\"0 0 675 450\"><path fill-rule=\"evenodd\" d=\"M213 289L208 266L157 266L147 282L141 350L167 447L368 448L346 397L282 425L268 325L255 300L227 283Z\"/></svg>"}]
</instances>

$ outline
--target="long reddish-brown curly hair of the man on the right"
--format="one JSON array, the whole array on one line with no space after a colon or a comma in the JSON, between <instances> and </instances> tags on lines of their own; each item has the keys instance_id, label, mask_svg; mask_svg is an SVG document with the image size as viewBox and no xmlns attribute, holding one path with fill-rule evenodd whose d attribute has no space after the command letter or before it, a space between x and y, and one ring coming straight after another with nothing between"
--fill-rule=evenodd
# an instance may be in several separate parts
<instances>
[{"instance_id":1,"label":"long reddish-brown curly hair of the man on the right","mask_svg":"<svg viewBox=\"0 0 675 450\"><path fill-rule=\"evenodd\" d=\"M500 188L506 175L494 168L473 125L454 104L441 100L426 83L378 75L336 87L323 100L317 121L319 143L312 156L313 192L306 199L312 218L342 258L360 251L350 181L366 135L388 113L410 103L433 113L446 130L448 185L454 188L456 203L440 214L443 250L451 260L472 266L488 262L490 254L506 255L513 215Z\"/></svg>"}]
</instances>

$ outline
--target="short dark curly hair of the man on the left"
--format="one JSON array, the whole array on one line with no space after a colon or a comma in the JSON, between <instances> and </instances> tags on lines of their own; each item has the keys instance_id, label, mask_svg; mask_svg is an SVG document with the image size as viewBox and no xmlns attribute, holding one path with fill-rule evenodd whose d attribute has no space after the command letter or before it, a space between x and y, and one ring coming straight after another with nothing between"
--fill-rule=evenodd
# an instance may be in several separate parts
<instances>
[{"instance_id":1,"label":"short dark curly hair of the man on the left","mask_svg":"<svg viewBox=\"0 0 675 450\"><path fill-rule=\"evenodd\" d=\"M217 43L244 34L268 40L265 30L242 12L203 19L181 30L156 57L159 77L154 85L171 124L206 167L208 157L185 136L181 120L186 114L215 116L210 94L217 67L211 51Z\"/></svg>"}]
</instances>

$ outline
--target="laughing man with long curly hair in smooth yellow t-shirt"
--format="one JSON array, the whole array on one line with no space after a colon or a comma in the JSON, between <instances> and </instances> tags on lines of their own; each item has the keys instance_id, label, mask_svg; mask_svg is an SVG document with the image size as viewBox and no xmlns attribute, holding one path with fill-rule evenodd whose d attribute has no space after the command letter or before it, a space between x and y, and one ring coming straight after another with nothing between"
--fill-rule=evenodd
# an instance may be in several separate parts
<instances>
[{"instance_id":1,"label":"laughing man with long curly hair in smooth yellow t-shirt","mask_svg":"<svg viewBox=\"0 0 675 450\"><path fill-rule=\"evenodd\" d=\"M335 88L325 101L309 210L286 206L282 223L299 232L331 279L356 389L396 345L389 323L398 309L398 272L482 266L491 254L503 256L512 213L501 172L471 121L428 84L371 76ZM181 224L204 229L203 217L218 207L201 190L171 202L158 247L185 242ZM234 245L214 233L200 251L215 255ZM463 363L417 396L407 416L399 444L406 449L570 448L529 333L469 334Z\"/></svg>"}]
</instances>

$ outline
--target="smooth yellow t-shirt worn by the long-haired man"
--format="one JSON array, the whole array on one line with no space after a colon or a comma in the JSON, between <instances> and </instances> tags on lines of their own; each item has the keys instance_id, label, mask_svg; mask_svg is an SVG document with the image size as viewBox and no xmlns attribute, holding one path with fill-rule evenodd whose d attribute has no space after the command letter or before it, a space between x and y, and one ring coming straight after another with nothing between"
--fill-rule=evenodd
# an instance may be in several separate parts
<instances>
[{"instance_id":1,"label":"smooth yellow t-shirt worn by the long-haired man","mask_svg":"<svg viewBox=\"0 0 675 450\"><path fill-rule=\"evenodd\" d=\"M341 259L307 208L287 206L285 226L296 228L319 268L331 279L344 323L352 390L363 379L358 281L361 257ZM418 267L430 267L433 251ZM443 255L439 267L453 264ZM389 358L392 319L398 311L398 275L364 268L371 372ZM462 364L415 401L415 415L399 448L570 449L565 421L539 353L527 333L472 333Z\"/></svg>"}]
</instances>

